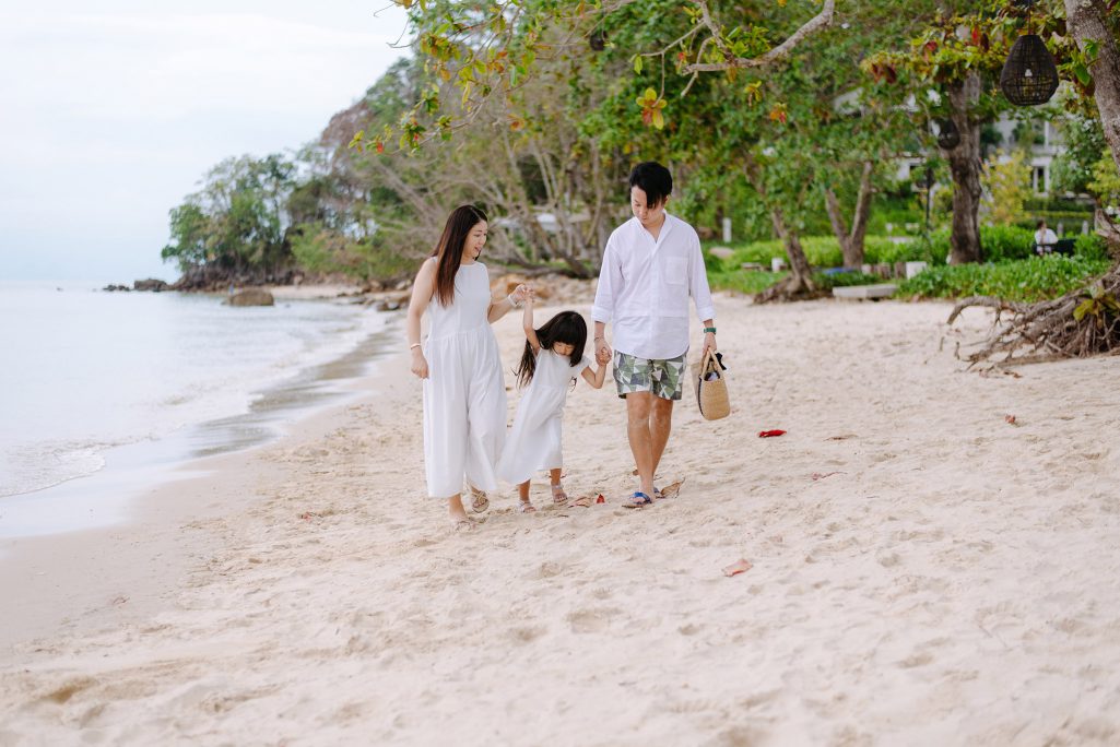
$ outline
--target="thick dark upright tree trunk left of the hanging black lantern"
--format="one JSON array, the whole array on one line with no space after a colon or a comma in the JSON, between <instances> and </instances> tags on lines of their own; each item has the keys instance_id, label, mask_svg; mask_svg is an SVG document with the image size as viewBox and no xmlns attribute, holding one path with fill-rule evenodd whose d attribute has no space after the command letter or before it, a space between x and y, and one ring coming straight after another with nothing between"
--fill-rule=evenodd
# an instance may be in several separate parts
<instances>
[{"instance_id":1,"label":"thick dark upright tree trunk left of the hanging black lantern","mask_svg":"<svg viewBox=\"0 0 1120 747\"><path fill-rule=\"evenodd\" d=\"M953 230L950 264L980 261L980 128L971 116L980 101L980 76L970 74L949 85L950 116L961 142L946 150L953 175Z\"/></svg>"}]
</instances>

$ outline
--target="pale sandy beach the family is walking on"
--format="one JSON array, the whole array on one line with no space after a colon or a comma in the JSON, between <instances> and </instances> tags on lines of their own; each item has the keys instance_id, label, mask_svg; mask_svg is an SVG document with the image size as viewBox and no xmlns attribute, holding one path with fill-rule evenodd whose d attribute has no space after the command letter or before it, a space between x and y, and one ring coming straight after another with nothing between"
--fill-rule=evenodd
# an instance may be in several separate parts
<instances>
[{"instance_id":1,"label":"pale sandy beach the family is walking on","mask_svg":"<svg viewBox=\"0 0 1120 747\"><path fill-rule=\"evenodd\" d=\"M608 380L564 421L605 504L449 533L401 335L134 523L7 541L0 745L1120 741L1120 357L981 375L986 311L716 302L734 411L685 396L651 508Z\"/></svg>"}]
</instances>

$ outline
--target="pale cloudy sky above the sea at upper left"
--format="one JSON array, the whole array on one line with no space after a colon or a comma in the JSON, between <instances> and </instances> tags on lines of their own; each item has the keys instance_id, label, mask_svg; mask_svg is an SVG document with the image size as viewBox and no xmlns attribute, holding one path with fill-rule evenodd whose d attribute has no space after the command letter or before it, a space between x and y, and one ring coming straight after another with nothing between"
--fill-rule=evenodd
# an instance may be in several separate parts
<instances>
[{"instance_id":1,"label":"pale cloudy sky above the sea at upper left","mask_svg":"<svg viewBox=\"0 0 1120 747\"><path fill-rule=\"evenodd\" d=\"M174 280L168 211L227 157L317 140L404 25L391 0L4 3L0 281Z\"/></svg>"}]
</instances>

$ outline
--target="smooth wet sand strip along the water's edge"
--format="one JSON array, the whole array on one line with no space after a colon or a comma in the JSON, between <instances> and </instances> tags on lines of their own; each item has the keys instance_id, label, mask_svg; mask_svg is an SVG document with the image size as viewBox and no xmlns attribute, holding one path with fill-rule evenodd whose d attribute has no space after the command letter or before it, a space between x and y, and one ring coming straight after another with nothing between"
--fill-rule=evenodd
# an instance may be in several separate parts
<instances>
[{"instance_id":1,"label":"smooth wet sand strip along the water's edge","mask_svg":"<svg viewBox=\"0 0 1120 747\"><path fill-rule=\"evenodd\" d=\"M386 330L394 326L390 320ZM373 384L407 367L405 360L386 349L365 374L349 380L339 393L343 402L304 412L263 443L177 461L155 486L133 489L115 523L0 538L0 598L21 600L18 619L0 628L0 651L64 629L132 624L166 609L167 596L192 568L221 550L214 523L252 504L256 486L246 465L271 449L324 438L347 411L376 398Z\"/></svg>"}]
</instances>

